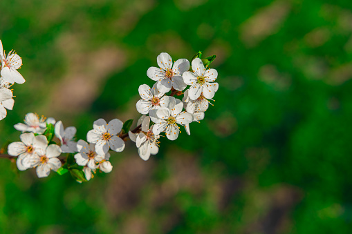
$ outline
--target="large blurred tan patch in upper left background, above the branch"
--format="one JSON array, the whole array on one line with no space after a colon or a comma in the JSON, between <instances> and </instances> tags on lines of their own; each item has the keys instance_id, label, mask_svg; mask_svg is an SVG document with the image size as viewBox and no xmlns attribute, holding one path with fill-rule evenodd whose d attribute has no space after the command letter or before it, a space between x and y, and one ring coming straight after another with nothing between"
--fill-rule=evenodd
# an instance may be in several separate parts
<instances>
[{"instance_id":1,"label":"large blurred tan patch in upper left background, above the branch","mask_svg":"<svg viewBox=\"0 0 352 234\"><path fill-rule=\"evenodd\" d=\"M84 51L75 35L64 35L59 41L69 66L66 77L53 88L50 105L57 113L82 111L100 95L108 75L124 67L127 53L115 46Z\"/></svg>"}]
</instances>

